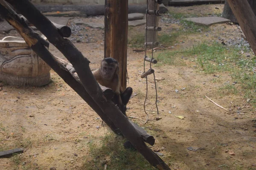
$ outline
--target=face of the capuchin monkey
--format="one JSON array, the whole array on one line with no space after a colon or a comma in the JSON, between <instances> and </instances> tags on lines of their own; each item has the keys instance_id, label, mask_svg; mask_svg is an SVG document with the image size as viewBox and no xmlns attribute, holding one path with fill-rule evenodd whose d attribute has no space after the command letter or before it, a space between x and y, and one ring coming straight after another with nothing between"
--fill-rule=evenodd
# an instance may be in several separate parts
<instances>
[{"instance_id":1,"label":"face of the capuchin monkey","mask_svg":"<svg viewBox=\"0 0 256 170\"><path fill-rule=\"evenodd\" d=\"M115 63L107 63L105 61L102 62L101 65L101 74L102 77L106 80L113 79L113 76L116 72L117 65Z\"/></svg>"}]
</instances>

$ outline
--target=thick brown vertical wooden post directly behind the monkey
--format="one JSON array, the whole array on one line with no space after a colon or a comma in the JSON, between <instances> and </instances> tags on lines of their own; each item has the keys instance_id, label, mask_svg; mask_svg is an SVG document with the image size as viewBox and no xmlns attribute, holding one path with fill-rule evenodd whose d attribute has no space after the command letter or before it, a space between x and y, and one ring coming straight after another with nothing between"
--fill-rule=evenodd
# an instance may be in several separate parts
<instances>
[{"instance_id":1,"label":"thick brown vertical wooden post directly behind the monkey","mask_svg":"<svg viewBox=\"0 0 256 170\"><path fill-rule=\"evenodd\" d=\"M120 90L126 89L128 0L105 0L104 57L119 62Z\"/></svg>"}]
</instances>

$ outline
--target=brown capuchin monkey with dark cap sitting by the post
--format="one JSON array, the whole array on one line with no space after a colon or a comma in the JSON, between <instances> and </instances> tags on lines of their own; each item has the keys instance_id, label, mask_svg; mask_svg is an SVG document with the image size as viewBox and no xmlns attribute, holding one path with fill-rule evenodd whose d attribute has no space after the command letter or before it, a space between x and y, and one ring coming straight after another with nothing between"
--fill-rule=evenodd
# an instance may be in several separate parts
<instances>
[{"instance_id":1,"label":"brown capuchin monkey with dark cap sitting by the post","mask_svg":"<svg viewBox=\"0 0 256 170\"><path fill-rule=\"evenodd\" d=\"M126 105L131 97L132 88L128 87L125 91L121 91L119 81L119 64L116 59L103 59L100 68L93 71L93 75L100 85L111 88L114 91L112 101L126 116Z\"/></svg>"}]
</instances>

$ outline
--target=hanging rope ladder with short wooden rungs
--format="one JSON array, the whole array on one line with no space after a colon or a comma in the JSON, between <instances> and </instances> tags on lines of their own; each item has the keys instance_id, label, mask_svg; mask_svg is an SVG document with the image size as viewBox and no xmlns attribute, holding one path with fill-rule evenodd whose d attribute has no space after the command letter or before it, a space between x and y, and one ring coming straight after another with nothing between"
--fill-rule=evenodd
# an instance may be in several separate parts
<instances>
[{"instance_id":1,"label":"hanging rope ladder with short wooden rungs","mask_svg":"<svg viewBox=\"0 0 256 170\"><path fill-rule=\"evenodd\" d=\"M153 57L153 47L154 45L158 45L159 42L155 42L155 31L161 31L161 28L160 27L156 27L156 20L155 20L155 17L157 15L157 17L160 16L159 14L159 11L158 10L155 10L155 7L156 7L156 3L158 4L161 4L162 3L162 0L154 0L154 9L153 10L149 10L148 9L148 0L147 0L147 10L146 10L146 27L145 27L145 57L144 57L144 64L143 64L143 67L144 67L144 72L143 74L141 75L141 78L146 78L146 96L145 96L145 101L144 101L144 111L147 115L147 119L146 119L146 122L145 124L148 122L148 113L146 111L146 107L145 107L145 103L146 103L146 100L147 100L147 97L148 97L148 75L150 74L153 74L154 75L154 87L155 87L155 91L156 91L156 100L155 100L155 105L156 105L156 108L157 108L157 118L159 116L159 111L158 111L158 107L157 107L157 83L156 83L156 79L155 79L155 74L154 74L154 70L151 68L151 63L154 63L156 64L157 63L157 60L154 59ZM152 27L148 27L148 14L153 14L154 15L154 26ZM147 41L147 32L148 30L152 30L153 31L153 41L152 42L148 42ZM151 48L151 58L147 57L147 45L152 45L152 48ZM145 61L148 61L150 62L150 68L148 71L145 71Z\"/></svg>"}]
</instances>

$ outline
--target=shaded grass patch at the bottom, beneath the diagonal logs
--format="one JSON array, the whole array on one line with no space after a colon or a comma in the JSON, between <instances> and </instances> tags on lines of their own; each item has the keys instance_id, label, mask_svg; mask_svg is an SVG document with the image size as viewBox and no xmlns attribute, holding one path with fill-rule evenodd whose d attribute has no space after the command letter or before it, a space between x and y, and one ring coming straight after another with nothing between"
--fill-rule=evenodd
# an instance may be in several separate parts
<instances>
[{"instance_id":1,"label":"shaded grass patch at the bottom, beneath the diagonal logs","mask_svg":"<svg viewBox=\"0 0 256 170\"><path fill-rule=\"evenodd\" d=\"M107 164L109 170L155 170L140 153L125 150L122 146L124 142L114 134L106 134L99 145L90 142L90 154L85 157L81 169L104 169Z\"/></svg>"}]
</instances>

